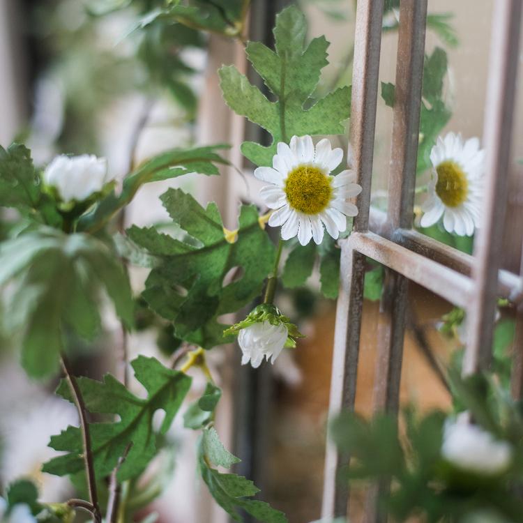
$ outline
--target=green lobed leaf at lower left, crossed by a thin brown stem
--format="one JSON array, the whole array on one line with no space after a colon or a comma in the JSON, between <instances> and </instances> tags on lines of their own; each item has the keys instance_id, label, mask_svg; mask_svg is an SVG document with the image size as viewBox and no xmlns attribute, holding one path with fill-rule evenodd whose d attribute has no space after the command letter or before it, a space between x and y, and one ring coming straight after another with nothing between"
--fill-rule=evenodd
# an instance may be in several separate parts
<instances>
[{"instance_id":1,"label":"green lobed leaf at lower left, crossed by a thin brown stem","mask_svg":"<svg viewBox=\"0 0 523 523\"><path fill-rule=\"evenodd\" d=\"M162 409L165 418L158 434L165 434L187 395L191 379L183 372L164 367L156 358L138 356L131 363L136 379L146 388L145 399L128 391L111 374L102 382L80 377L77 379L86 408L96 414L117 414L114 423L91 423L93 460L98 478L103 478L116 467L119 458L128 451L119 471L119 481L139 476L156 455L156 433L153 430L153 414ZM65 380L56 391L72 401ZM47 462L43 471L65 476L82 470L82 436L79 428L68 427L51 438L50 446L66 452Z\"/></svg>"}]
</instances>

